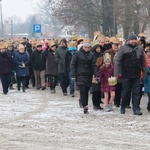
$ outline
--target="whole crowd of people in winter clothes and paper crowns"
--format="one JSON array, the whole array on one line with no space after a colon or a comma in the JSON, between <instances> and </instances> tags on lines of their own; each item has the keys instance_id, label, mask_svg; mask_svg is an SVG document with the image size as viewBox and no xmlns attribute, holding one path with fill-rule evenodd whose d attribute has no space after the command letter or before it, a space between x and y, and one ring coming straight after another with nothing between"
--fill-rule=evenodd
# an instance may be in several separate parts
<instances>
[{"instance_id":1,"label":"whole crowd of people in winter clothes and paper crowns","mask_svg":"<svg viewBox=\"0 0 150 150\"><path fill-rule=\"evenodd\" d=\"M106 112L120 107L142 115L140 100L148 95L150 112L150 41L143 33L128 39L94 33L94 39L73 36L53 40L0 41L0 78L3 94L9 89L26 92L29 83L36 90L60 87L64 96L77 95L83 113L88 114L89 92L93 109ZM144 88L144 91L143 91ZM103 99L103 101L102 101ZM101 104L104 103L104 108Z\"/></svg>"}]
</instances>

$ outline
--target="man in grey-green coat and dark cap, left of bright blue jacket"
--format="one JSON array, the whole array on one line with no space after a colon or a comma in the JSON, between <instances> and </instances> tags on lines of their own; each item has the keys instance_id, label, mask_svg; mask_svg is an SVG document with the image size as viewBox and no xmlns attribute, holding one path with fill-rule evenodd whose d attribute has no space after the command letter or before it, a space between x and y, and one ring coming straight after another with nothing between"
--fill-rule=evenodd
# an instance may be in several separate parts
<instances>
[{"instance_id":1,"label":"man in grey-green coat and dark cap, left of bright blue jacket","mask_svg":"<svg viewBox=\"0 0 150 150\"><path fill-rule=\"evenodd\" d=\"M55 61L58 63L60 86L64 96L67 95L67 86L68 86L68 78L67 78L67 73L65 68L65 57L67 51L68 51L67 40L63 38L60 41L60 47L57 48L54 58Z\"/></svg>"}]
</instances>

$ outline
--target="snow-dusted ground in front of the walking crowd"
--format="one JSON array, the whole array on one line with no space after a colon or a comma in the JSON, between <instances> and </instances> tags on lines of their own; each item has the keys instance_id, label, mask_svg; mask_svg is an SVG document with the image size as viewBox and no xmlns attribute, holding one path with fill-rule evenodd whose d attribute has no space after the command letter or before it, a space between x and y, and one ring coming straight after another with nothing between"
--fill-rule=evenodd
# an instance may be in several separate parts
<instances>
[{"instance_id":1,"label":"snow-dusted ground in front of the walking crowd","mask_svg":"<svg viewBox=\"0 0 150 150\"><path fill-rule=\"evenodd\" d=\"M149 150L150 114L143 96L143 116L94 111L91 96L85 115L78 99L49 88L26 93L0 87L0 150Z\"/></svg>"}]
</instances>

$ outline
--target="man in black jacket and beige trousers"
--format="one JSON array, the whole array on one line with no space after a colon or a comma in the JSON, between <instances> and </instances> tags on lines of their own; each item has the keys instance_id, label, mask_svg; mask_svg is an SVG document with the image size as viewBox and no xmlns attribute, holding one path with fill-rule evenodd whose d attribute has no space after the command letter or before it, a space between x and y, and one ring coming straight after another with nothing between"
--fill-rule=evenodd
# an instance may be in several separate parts
<instances>
[{"instance_id":1,"label":"man in black jacket and beige trousers","mask_svg":"<svg viewBox=\"0 0 150 150\"><path fill-rule=\"evenodd\" d=\"M31 64L34 69L36 89L45 90L45 61L42 59L42 43L37 43L36 50L31 55Z\"/></svg>"}]
</instances>

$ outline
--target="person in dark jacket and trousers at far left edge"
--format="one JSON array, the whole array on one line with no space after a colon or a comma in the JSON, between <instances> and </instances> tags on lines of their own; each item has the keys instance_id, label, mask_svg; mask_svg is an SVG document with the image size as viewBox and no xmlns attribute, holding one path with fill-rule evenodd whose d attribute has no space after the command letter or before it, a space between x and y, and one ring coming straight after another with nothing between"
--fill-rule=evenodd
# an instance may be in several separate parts
<instances>
[{"instance_id":1,"label":"person in dark jacket and trousers at far left edge","mask_svg":"<svg viewBox=\"0 0 150 150\"><path fill-rule=\"evenodd\" d=\"M11 54L6 51L6 46L4 44L0 44L0 77L4 94L8 93L13 69L14 61Z\"/></svg>"}]
</instances>

